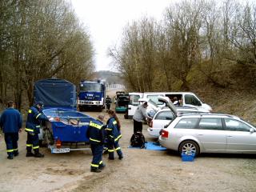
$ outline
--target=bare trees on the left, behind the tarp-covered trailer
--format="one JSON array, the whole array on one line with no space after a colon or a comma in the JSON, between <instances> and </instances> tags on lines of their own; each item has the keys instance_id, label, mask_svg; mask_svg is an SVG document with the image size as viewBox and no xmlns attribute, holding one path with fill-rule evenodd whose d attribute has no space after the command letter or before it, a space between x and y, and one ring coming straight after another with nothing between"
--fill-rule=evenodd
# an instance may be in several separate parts
<instances>
[{"instance_id":1,"label":"bare trees on the left, behind the tarp-covered trailer","mask_svg":"<svg viewBox=\"0 0 256 192\"><path fill-rule=\"evenodd\" d=\"M0 103L31 105L41 78L90 77L94 49L71 7L63 0L0 2Z\"/></svg>"}]
</instances>

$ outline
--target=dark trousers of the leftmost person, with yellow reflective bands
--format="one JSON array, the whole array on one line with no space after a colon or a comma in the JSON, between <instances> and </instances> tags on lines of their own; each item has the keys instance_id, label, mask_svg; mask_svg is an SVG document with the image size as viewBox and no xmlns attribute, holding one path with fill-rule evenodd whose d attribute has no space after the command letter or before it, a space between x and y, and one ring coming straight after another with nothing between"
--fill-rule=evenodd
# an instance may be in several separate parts
<instances>
[{"instance_id":1,"label":"dark trousers of the leftmost person, with yellow reflective bands","mask_svg":"<svg viewBox=\"0 0 256 192\"><path fill-rule=\"evenodd\" d=\"M18 133L5 133L5 141L7 154L18 154Z\"/></svg>"}]
</instances>

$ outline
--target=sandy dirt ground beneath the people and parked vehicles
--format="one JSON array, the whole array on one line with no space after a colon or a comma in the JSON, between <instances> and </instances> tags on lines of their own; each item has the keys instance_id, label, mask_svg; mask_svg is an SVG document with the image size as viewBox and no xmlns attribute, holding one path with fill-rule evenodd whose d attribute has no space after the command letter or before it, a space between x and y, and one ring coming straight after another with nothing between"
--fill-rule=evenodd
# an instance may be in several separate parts
<instances>
[{"instance_id":1,"label":"sandy dirt ground beneath the people and parked vehicles","mask_svg":"<svg viewBox=\"0 0 256 192\"><path fill-rule=\"evenodd\" d=\"M97 116L97 112L88 113ZM122 123L123 160L109 161L106 169L90 173L91 153L72 151L50 154L45 158L26 158L26 133L19 139L20 154L6 158L6 146L0 142L0 191L256 191L255 155L204 154L194 162L182 162L172 151L130 149L131 120L118 114ZM152 141L143 127L147 140Z\"/></svg>"}]
</instances>

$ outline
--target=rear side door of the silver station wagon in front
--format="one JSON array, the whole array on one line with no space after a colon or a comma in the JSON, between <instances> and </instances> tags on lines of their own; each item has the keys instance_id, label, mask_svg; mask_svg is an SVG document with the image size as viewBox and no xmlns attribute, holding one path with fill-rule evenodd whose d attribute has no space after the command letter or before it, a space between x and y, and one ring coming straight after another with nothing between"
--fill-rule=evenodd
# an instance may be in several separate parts
<instances>
[{"instance_id":1,"label":"rear side door of the silver station wagon in front","mask_svg":"<svg viewBox=\"0 0 256 192\"><path fill-rule=\"evenodd\" d=\"M222 126L222 118L201 118L197 128L197 137L204 150L226 150L226 131Z\"/></svg>"}]
</instances>

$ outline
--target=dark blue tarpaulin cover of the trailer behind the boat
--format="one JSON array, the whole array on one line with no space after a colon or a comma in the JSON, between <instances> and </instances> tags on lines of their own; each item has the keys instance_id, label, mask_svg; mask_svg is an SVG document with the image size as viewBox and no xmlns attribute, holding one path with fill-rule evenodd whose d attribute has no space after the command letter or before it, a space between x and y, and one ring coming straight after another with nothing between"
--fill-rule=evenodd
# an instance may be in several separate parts
<instances>
[{"instance_id":1,"label":"dark blue tarpaulin cover of the trailer behind the boat","mask_svg":"<svg viewBox=\"0 0 256 192\"><path fill-rule=\"evenodd\" d=\"M64 79L49 78L34 83L34 102L45 108L61 107L76 110L76 86Z\"/></svg>"}]
</instances>

